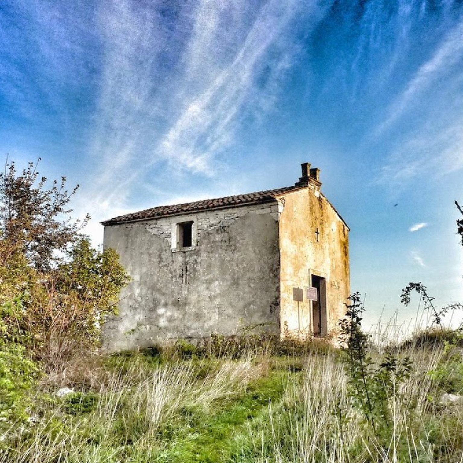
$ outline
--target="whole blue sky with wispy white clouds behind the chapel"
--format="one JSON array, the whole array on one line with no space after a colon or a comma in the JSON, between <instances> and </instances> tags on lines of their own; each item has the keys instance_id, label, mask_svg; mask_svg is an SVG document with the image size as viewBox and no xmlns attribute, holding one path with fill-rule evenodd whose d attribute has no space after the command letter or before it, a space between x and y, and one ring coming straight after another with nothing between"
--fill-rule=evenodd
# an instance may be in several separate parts
<instances>
[{"instance_id":1,"label":"whole blue sky with wispy white clouds behind the chapel","mask_svg":"<svg viewBox=\"0 0 463 463\"><path fill-rule=\"evenodd\" d=\"M95 243L100 220L308 161L367 323L414 316L410 281L463 300L461 1L3 0L0 26L0 153L79 183Z\"/></svg>"}]
</instances>

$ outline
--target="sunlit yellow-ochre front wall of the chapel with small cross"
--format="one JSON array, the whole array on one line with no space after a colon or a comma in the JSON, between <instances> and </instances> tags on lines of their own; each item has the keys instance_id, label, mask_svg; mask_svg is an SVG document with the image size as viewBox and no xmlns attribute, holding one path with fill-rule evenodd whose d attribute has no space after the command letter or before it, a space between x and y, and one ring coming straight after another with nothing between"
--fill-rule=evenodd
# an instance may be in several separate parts
<instances>
[{"instance_id":1,"label":"sunlit yellow-ochre front wall of the chapel with small cross","mask_svg":"<svg viewBox=\"0 0 463 463\"><path fill-rule=\"evenodd\" d=\"M326 279L327 330L332 332L344 314L344 302L350 292L349 229L312 184L279 200L283 206L280 215L281 328L313 332L312 306L305 292L310 286L309 275L313 273ZM293 288L304 290L302 302L293 300Z\"/></svg>"}]
</instances>

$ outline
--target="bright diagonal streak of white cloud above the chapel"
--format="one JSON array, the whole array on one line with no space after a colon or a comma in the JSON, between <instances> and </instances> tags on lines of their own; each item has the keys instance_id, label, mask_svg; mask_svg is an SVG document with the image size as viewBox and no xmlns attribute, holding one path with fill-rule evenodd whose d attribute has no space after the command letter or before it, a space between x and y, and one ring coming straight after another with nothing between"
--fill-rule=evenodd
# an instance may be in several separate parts
<instances>
[{"instance_id":1,"label":"bright diagonal streak of white cloud above the chapel","mask_svg":"<svg viewBox=\"0 0 463 463\"><path fill-rule=\"evenodd\" d=\"M211 2L206 3L210 8ZM283 37L283 31L300 5L296 1L286 2L284 6L279 1L269 1L264 5L250 28L245 33L241 31L243 42L234 44L236 49L232 59L225 66L208 63L207 51L225 42L223 32L217 27L220 22L217 15L225 16L229 7L223 4L223 11L213 15L204 33L203 6L199 8L186 62L189 74L205 75L207 85L197 95L185 99L182 113L153 154L164 157L169 163L180 163L193 171L209 174L211 158L232 141L240 110L247 104L260 106L256 78L270 47L278 48L279 55L273 63L275 67L269 76L270 81L277 80L290 61L291 49L288 40ZM198 58L204 54L205 63ZM211 67L215 71L213 75L210 75ZM188 81L186 83L188 85ZM186 94L185 91L181 93Z\"/></svg>"}]
</instances>

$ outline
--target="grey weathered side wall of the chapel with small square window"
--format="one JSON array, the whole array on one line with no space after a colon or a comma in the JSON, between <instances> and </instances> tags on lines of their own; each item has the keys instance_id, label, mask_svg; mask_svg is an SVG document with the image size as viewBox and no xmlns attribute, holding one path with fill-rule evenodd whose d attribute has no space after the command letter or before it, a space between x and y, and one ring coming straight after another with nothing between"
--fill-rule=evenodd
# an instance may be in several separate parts
<instances>
[{"instance_id":1,"label":"grey weathered side wall of the chapel with small square window","mask_svg":"<svg viewBox=\"0 0 463 463\"><path fill-rule=\"evenodd\" d=\"M194 246L172 249L178 222ZM269 324L279 332L278 205L240 206L105 227L132 278L104 326L109 350Z\"/></svg>"}]
</instances>

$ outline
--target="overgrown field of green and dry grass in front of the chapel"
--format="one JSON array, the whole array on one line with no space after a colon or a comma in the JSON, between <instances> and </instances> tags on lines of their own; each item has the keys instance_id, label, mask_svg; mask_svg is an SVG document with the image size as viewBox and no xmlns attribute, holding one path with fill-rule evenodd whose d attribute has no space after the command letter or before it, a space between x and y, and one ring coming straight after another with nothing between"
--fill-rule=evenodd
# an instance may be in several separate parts
<instances>
[{"instance_id":1,"label":"overgrown field of green and dry grass in front of the chapel","mask_svg":"<svg viewBox=\"0 0 463 463\"><path fill-rule=\"evenodd\" d=\"M463 462L459 347L398 352L412 370L385 399L387 425L376 419L375 429L356 405L343 355L308 343L234 358L182 346L75 359L44 378L29 420L3 423L0 461ZM63 385L75 392L57 397Z\"/></svg>"}]
</instances>

